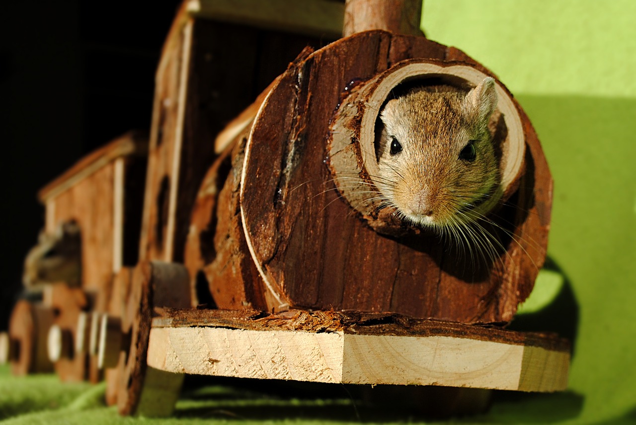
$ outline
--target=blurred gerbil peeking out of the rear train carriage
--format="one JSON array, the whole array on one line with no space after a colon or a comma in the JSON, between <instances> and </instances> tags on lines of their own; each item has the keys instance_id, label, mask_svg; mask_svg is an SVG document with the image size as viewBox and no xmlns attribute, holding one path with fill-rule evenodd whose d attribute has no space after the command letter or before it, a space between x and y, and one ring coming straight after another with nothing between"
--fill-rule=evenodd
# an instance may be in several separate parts
<instances>
[{"instance_id":1,"label":"blurred gerbil peeking out of the rear train carriage","mask_svg":"<svg viewBox=\"0 0 636 425\"><path fill-rule=\"evenodd\" d=\"M39 234L38 245L24 260L22 283L27 292L43 285L64 282L77 287L81 278L81 234L74 221L60 223L55 233Z\"/></svg>"}]
</instances>

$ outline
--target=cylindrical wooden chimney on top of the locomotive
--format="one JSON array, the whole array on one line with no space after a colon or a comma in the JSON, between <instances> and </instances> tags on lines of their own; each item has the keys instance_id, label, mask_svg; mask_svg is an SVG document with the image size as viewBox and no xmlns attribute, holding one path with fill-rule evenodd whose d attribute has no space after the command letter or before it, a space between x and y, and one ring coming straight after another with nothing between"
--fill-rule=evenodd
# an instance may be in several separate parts
<instances>
[{"instance_id":1,"label":"cylindrical wooden chimney on top of the locomotive","mask_svg":"<svg viewBox=\"0 0 636 425\"><path fill-rule=\"evenodd\" d=\"M422 0L347 0L343 36L382 29L422 36Z\"/></svg>"}]
</instances>

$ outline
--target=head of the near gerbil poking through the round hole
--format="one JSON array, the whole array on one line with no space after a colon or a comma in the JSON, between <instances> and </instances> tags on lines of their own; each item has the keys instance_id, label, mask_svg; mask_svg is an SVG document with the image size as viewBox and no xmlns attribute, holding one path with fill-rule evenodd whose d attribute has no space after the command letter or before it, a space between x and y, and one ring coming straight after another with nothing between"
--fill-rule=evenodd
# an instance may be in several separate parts
<instances>
[{"instance_id":1,"label":"head of the near gerbil poking through the round hole","mask_svg":"<svg viewBox=\"0 0 636 425\"><path fill-rule=\"evenodd\" d=\"M376 179L387 205L420 227L443 230L478 218L474 209L501 180L488 132L496 105L492 78L468 93L428 86L389 100L380 112Z\"/></svg>"}]
</instances>

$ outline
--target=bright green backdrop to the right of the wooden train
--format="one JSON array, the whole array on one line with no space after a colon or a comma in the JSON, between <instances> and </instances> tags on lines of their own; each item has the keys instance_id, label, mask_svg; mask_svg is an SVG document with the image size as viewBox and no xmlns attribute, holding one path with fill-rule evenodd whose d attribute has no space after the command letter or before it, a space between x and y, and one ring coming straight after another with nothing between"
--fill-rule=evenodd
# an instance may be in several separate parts
<instances>
[{"instance_id":1,"label":"bright green backdrop to the right of the wooden train","mask_svg":"<svg viewBox=\"0 0 636 425\"><path fill-rule=\"evenodd\" d=\"M424 2L427 37L518 98L555 180L548 255L569 299L536 323L572 322L570 391L498 403L492 419L636 423L635 24L630 0Z\"/></svg>"}]
</instances>

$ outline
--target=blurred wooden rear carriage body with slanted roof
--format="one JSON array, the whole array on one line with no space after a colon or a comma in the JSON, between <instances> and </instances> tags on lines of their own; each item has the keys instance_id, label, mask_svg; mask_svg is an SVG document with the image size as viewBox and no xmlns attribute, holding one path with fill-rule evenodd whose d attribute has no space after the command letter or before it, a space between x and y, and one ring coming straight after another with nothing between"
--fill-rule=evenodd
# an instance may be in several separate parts
<instances>
[{"instance_id":1,"label":"blurred wooden rear carriage body with slanted roof","mask_svg":"<svg viewBox=\"0 0 636 425\"><path fill-rule=\"evenodd\" d=\"M148 137L129 132L84 158L38 193L45 231L74 220L82 239L82 287L108 288L123 264L137 263Z\"/></svg>"}]
</instances>

